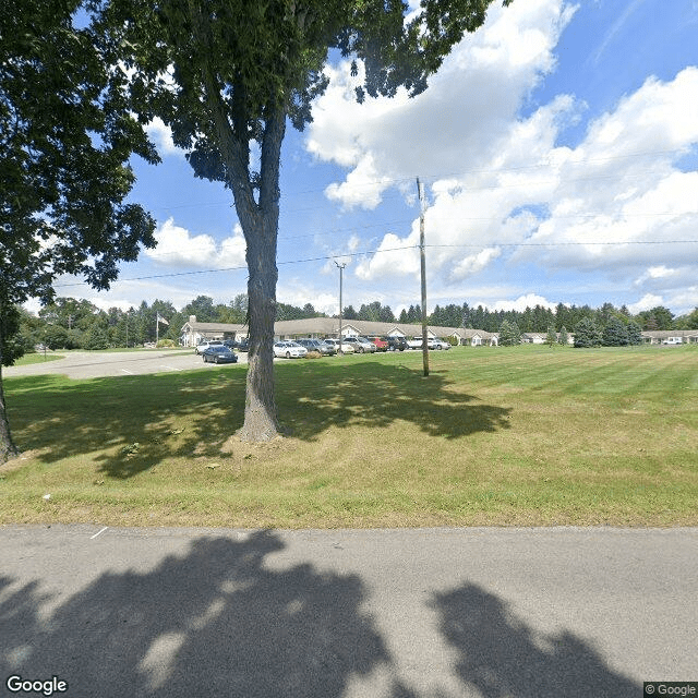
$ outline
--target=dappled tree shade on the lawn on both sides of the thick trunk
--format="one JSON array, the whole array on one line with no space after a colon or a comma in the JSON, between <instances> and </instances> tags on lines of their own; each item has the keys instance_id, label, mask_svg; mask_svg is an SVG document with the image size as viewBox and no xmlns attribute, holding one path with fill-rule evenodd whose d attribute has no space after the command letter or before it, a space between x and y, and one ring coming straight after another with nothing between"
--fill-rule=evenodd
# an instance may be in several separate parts
<instances>
[{"instance_id":1,"label":"dappled tree shade on the lawn on both sides of the thick trunk","mask_svg":"<svg viewBox=\"0 0 698 698\"><path fill-rule=\"evenodd\" d=\"M97 452L104 473L125 479L167 458L225 457L221 446L244 419L245 375L210 366L71 382L24 376L8 380L5 393L22 450L40 450L47 464ZM445 371L424 377L397 363L308 361L277 366L276 384L284 428L304 441L398 420L448 440L509 426L510 408L481 402Z\"/></svg>"}]
</instances>

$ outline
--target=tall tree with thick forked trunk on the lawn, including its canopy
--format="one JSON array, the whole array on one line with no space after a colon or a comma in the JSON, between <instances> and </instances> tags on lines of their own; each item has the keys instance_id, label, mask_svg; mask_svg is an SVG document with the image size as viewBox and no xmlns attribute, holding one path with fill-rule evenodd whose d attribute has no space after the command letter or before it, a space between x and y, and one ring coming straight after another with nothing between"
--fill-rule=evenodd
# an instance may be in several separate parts
<instances>
[{"instance_id":1,"label":"tall tree with thick forked trunk on the lawn, including its canopy","mask_svg":"<svg viewBox=\"0 0 698 698\"><path fill-rule=\"evenodd\" d=\"M105 46L119 51L143 123L158 117L196 177L230 189L246 242L250 353L244 425L279 425L272 345L277 316L279 166L287 120L312 119L330 51L351 61L357 99L414 96L493 0L95 0ZM504 0L507 4L509 0Z\"/></svg>"}]
</instances>

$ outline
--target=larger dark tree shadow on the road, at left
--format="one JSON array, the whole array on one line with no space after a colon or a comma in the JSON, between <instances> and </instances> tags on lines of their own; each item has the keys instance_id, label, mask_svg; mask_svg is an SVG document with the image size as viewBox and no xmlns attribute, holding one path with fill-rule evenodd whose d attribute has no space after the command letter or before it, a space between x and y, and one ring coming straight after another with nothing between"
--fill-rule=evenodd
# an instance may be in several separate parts
<instances>
[{"instance_id":1,"label":"larger dark tree shadow on the road, at left","mask_svg":"<svg viewBox=\"0 0 698 698\"><path fill-rule=\"evenodd\" d=\"M267 568L282 547L270 532L201 538L152 571L105 571L55 607L38 582L0 578L0 676L56 675L69 684L60 695L82 697L338 698L388 660L360 609L363 583L309 564Z\"/></svg>"}]
</instances>

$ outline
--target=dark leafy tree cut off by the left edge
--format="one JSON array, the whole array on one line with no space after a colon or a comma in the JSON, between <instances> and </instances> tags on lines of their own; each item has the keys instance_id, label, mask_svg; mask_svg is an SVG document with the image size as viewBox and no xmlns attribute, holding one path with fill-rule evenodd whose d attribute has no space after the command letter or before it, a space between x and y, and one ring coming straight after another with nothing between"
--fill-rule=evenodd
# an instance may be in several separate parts
<instances>
[{"instance_id":1,"label":"dark leafy tree cut off by the left edge","mask_svg":"<svg viewBox=\"0 0 698 698\"><path fill-rule=\"evenodd\" d=\"M124 200L131 154L157 153L128 109L116 57L75 26L81 7L0 5L0 366L21 352L16 304L49 301L60 274L108 288L120 261L155 244L153 219ZM12 453L0 383L0 462Z\"/></svg>"}]
</instances>

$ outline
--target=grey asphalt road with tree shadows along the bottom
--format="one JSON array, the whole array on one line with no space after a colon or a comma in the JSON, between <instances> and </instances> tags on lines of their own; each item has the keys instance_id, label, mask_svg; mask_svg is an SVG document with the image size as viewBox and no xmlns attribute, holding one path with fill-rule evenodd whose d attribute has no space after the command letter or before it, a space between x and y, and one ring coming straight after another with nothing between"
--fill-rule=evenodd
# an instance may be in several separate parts
<instances>
[{"instance_id":1,"label":"grey asphalt road with tree shadows along the bottom","mask_svg":"<svg viewBox=\"0 0 698 698\"><path fill-rule=\"evenodd\" d=\"M697 600L698 529L0 527L0 696L639 698Z\"/></svg>"}]
</instances>

